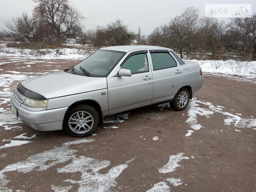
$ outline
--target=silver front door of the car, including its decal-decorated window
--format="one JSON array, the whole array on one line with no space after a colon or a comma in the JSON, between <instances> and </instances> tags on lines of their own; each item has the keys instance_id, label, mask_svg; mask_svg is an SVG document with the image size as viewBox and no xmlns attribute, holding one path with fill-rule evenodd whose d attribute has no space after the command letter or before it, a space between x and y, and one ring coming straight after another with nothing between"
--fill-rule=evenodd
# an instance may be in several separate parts
<instances>
[{"instance_id":1,"label":"silver front door of the car, including its decal-decorated window","mask_svg":"<svg viewBox=\"0 0 256 192\"><path fill-rule=\"evenodd\" d=\"M148 56L147 50L132 52L120 64L120 68L131 70L132 76L107 78L109 114L151 104L153 80Z\"/></svg>"}]
</instances>

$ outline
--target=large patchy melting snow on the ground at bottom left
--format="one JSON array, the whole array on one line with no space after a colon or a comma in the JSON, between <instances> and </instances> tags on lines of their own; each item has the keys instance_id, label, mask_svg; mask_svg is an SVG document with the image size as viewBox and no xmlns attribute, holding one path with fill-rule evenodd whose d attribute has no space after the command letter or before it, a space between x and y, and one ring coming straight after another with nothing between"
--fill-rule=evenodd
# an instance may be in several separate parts
<instances>
[{"instance_id":1,"label":"large patchy melting snow on the ground at bottom left","mask_svg":"<svg viewBox=\"0 0 256 192\"><path fill-rule=\"evenodd\" d=\"M84 191L110 191L111 188L117 185L116 178L122 173L124 169L128 167L128 164L134 160L126 161L124 164L114 166L108 170L105 174L98 173L103 168L110 166L109 160L100 160L95 158L89 158L86 156L76 157L77 150L69 149L72 144L82 144L87 142L93 142L94 139L80 139L72 142L65 142L60 147L54 147L52 150L47 150L42 153L34 154L28 157L24 161L20 161L14 164L6 166L0 171L0 191L11 190L7 187L10 180L4 175L5 172L18 171L22 173L28 173L32 170L43 171L55 166L59 163L68 162L72 160L68 165L58 168L59 173L81 173L81 180L66 179L64 182L70 182L72 184L78 184L78 192ZM54 186L52 190L55 192L67 192L72 186Z\"/></svg>"}]
</instances>

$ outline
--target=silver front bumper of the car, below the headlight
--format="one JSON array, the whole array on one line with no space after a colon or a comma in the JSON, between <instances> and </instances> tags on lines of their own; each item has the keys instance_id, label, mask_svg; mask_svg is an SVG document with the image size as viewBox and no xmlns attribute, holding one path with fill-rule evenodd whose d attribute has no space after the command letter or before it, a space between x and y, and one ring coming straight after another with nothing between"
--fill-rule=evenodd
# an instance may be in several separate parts
<instances>
[{"instance_id":1,"label":"silver front bumper of the car, below the headlight","mask_svg":"<svg viewBox=\"0 0 256 192\"><path fill-rule=\"evenodd\" d=\"M11 96L11 104L18 111L18 117L32 127L39 131L54 131L62 130L62 122L68 107L44 110L44 111L30 111L20 106L20 102Z\"/></svg>"}]
</instances>

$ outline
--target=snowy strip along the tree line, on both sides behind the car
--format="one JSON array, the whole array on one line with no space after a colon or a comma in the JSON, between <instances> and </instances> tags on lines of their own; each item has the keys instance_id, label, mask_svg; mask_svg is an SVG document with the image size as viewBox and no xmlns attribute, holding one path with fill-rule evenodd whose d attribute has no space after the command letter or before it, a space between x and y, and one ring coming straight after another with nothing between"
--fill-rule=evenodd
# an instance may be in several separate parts
<instances>
[{"instance_id":1,"label":"snowy strip along the tree line, on both sides behind the car","mask_svg":"<svg viewBox=\"0 0 256 192\"><path fill-rule=\"evenodd\" d=\"M42 52L40 54L40 52ZM86 58L93 51L79 48L31 49L7 48L6 44L0 44L0 56L29 57L42 59L77 59ZM256 61L242 62L234 60L191 60L198 62L203 72L220 73L224 75L239 75L246 78L256 78Z\"/></svg>"}]
</instances>

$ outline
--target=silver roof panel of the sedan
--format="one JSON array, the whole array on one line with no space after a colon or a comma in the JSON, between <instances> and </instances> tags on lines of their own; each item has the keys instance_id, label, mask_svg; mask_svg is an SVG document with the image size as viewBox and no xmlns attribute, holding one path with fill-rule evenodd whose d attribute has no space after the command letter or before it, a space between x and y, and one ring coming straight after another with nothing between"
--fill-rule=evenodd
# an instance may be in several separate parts
<instances>
[{"instance_id":1,"label":"silver roof panel of the sedan","mask_svg":"<svg viewBox=\"0 0 256 192\"><path fill-rule=\"evenodd\" d=\"M148 46L148 45L122 45L122 46L112 46L112 47L104 47L100 50L112 50L112 51L123 51L129 52L136 49L151 49L151 48L164 48L165 47L158 47L158 46Z\"/></svg>"}]
</instances>

